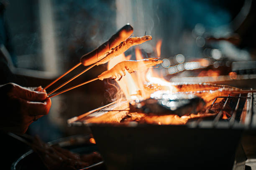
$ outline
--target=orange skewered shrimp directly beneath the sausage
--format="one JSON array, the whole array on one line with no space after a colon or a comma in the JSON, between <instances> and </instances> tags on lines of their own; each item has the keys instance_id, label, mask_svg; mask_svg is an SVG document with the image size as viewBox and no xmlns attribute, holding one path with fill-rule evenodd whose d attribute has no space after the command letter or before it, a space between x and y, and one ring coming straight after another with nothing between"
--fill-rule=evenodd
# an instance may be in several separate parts
<instances>
[{"instance_id":1,"label":"orange skewered shrimp directly beneath the sausage","mask_svg":"<svg viewBox=\"0 0 256 170\"><path fill-rule=\"evenodd\" d=\"M105 54L105 58L98 61L96 65L105 64L108 61L110 61L111 58L114 58L115 56L119 56L121 53L124 53L126 50L128 50L132 46L136 46L138 44L142 44L146 41L152 40L152 36L143 36L143 37L130 37L127 40L121 42L118 46L113 48L110 52Z\"/></svg>"}]
</instances>

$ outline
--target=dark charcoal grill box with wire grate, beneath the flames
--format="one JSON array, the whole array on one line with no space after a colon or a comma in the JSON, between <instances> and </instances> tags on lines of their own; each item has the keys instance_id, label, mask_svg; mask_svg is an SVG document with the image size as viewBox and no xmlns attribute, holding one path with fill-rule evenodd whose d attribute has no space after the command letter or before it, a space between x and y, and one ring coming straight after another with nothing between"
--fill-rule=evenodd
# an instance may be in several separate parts
<instances>
[{"instance_id":1,"label":"dark charcoal grill box with wire grate, beneath the flames","mask_svg":"<svg viewBox=\"0 0 256 170\"><path fill-rule=\"evenodd\" d=\"M69 125L79 128L89 126L108 169L244 169L245 159L237 159L236 151L243 152L240 140L243 132L256 127L256 93L238 96L218 96L225 102L214 117L192 119L184 125L157 125L88 123L88 117L100 117L124 111L110 104L95 109L86 117L74 117ZM233 100L232 115L222 119L223 111ZM205 109L209 112L210 108ZM118 111L122 110L122 111Z\"/></svg>"}]
</instances>

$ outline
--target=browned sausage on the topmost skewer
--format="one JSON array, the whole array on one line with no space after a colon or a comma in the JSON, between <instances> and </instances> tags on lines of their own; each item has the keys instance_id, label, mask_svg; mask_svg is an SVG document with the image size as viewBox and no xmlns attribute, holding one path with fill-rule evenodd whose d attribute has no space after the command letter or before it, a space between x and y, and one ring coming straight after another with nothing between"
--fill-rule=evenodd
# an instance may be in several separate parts
<instances>
[{"instance_id":1,"label":"browned sausage on the topmost skewer","mask_svg":"<svg viewBox=\"0 0 256 170\"><path fill-rule=\"evenodd\" d=\"M118 46L121 42L125 41L133 33L133 27L130 24L123 26L117 33L115 33L108 41L101 46L85 54L81 57L80 61L84 66L90 66L105 57L105 54Z\"/></svg>"}]
</instances>

